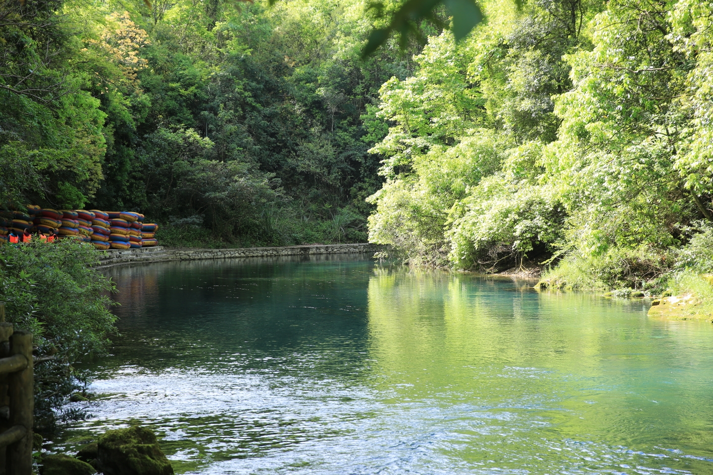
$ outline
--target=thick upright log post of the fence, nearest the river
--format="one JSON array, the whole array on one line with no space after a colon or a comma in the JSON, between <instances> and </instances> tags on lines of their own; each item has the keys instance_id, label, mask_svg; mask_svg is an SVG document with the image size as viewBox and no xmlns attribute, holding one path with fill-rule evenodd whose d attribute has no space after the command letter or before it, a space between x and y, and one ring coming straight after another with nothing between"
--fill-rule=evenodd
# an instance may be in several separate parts
<instances>
[{"instance_id":1,"label":"thick upright log post of the fence, nearest the river","mask_svg":"<svg viewBox=\"0 0 713 475\"><path fill-rule=\"evenodd\" d=\"M24 370L8 376L10 397L10 425L25 428L25 437L7 447L8 475L32 474L32 413L34 412L32 333L17 330L10 338L10 355L27 359Z\"/></svg>"}]
</instances>

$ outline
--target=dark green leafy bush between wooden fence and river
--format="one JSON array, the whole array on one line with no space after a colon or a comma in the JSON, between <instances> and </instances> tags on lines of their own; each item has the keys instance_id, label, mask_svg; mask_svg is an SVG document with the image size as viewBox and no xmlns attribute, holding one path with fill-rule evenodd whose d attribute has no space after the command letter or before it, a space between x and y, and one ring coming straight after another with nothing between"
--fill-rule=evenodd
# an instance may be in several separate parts
<instances>
[{"instance_id":1,"label":"dark green leafy bush between wooden fence and river","mask_svg":"<svg viewBox=\"0 0 713 475\"><path fill-rule=\"evenodd\" d=\"M91 268L93 246L71 240L0 246L0 300L6 320L34 334L35 427L53 429L68 395L85 380L74 366L106 351L116 319L111 281Z\"/></svg>"}]
</instances>

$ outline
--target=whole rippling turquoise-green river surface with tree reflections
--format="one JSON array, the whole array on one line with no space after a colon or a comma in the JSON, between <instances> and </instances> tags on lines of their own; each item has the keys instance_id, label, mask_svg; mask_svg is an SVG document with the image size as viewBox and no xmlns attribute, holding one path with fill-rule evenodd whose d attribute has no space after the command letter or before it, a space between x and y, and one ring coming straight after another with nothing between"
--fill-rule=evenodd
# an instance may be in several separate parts
<instances>
[{"instance_id":1,"label":"whole rippling turquoise-green river surface with tree reflections","mask_svg":"<svg viewBox=\"0 0 713 475\"><path fill-rule=\"evenodd\" d=\"M358 256L117 268L76 447L138 420L178 473L711 474L713 328Z\"/></svg>"}]
</instances>

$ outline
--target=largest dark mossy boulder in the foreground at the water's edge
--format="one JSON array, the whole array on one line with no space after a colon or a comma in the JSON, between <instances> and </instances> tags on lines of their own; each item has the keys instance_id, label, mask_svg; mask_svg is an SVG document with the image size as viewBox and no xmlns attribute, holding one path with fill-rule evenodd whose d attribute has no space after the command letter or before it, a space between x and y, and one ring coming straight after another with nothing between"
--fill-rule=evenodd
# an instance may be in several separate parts
<instances>
[{"instance_id":1,"label":"largest dark mossy boulder in the foreground at the water's edge","mask_svg":"<svg viewBox=\"0 0 713 475\"><path fill-rule=\"evenodd\" d=\"M97 461L104 475L173 475L156 436L140 426L99 436Z\"/></svg>"}]
</instances>

